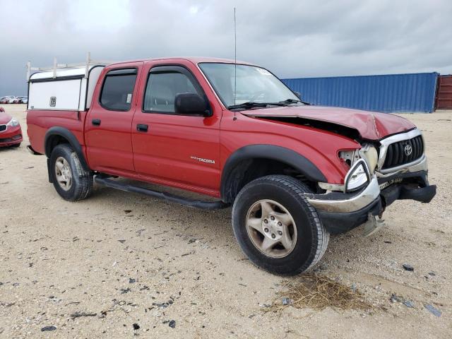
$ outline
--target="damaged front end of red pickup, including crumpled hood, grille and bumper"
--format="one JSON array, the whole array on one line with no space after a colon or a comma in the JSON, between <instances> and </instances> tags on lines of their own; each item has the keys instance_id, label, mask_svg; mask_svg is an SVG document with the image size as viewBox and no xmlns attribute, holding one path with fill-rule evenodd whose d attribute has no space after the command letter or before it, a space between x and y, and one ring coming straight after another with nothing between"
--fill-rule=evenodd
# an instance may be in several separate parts
<instances>
[{"instance_id":1,"label":"damaged front end of red pickup, including crumpled hood, grille and bumper","mask_svg":"<svg viewBox=\"0 0 452 339\"><path fill-rule=\"evenodd\" d=\"M364 224L364 234L383 225L383 211L396 200L429 203L422 133L408 119L393 114L338 107L278 107L243 112L250 117L307 126L350 138L359 149L340 150L349 170L343 184L319 182L317 194L306 194L331 233ZM336 161L338 159L335 159Z\"/></svg>"}]
</instances>

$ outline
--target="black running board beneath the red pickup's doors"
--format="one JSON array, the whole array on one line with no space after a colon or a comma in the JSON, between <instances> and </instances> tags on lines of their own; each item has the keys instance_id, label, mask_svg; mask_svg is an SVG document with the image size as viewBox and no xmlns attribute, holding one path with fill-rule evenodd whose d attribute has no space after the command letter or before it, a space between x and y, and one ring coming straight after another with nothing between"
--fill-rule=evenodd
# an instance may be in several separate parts
<instances>
[{"instance_id":1,"label":"black running board beneath the red pickup's doors","mask_svg":"<svg viewBox=\"0 0 452 339\"><path fill-rule=\"evenodd\" d=\"M218 210L220 208L227 208L230 206L229 203L224 203L222 201L198 201L189 198L183 198L182 196L175 196L174 194L169 194L166 192L153 191L152 189L143 189L142 187L129 184L121 184L120 182L115 182L112 179L107 179L102 175L96 175L94 177L94 181L97 182L97 184L111 187L112 189L145 194L146 196L153 196L154 198L160 198L171 203L179 203L180 205L201 208L203 210Z\"/></svg>"}]
</instances>

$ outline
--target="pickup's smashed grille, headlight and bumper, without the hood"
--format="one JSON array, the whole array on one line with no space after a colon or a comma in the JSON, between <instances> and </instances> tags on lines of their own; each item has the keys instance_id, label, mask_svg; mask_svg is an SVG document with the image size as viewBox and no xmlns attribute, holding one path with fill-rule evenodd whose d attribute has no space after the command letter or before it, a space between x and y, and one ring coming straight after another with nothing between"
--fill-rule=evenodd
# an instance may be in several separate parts
<instances>
[{"instance_id":1,"label":"pickup's smashed grille, headlight and bumper, without the hood","mask_svg":"<svg viewBox=\"0 0 452 339\"><path fill-rule=\"evenodd\" d=\"M375 147L376 146L376 147ZM344 184L319 183L324 194L306 194L331 233L364 224L364 234L379 229L385 208L398 199L429 203L436 186L427 179L427 157L418 129L345 150L339 157L350 165Z\"/></svg>"}]
</instances>

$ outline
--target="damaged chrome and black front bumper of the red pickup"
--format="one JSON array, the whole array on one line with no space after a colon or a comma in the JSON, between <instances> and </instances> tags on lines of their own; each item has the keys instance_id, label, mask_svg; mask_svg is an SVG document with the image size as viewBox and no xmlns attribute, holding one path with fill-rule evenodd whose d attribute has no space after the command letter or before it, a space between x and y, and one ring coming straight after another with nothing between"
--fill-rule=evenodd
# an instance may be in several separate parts
<instances>
[{"instance_id":1,"label":"damaged chrome and black front bumper of the red pickup","mask_svg":"<svg viewBox=\"0 0 452 339\"><path fill-rule=\"evenodd\" d=\"M427 180L427 157L403 171L376 173L364 189L353 193L331 192L306 194L316 208L323 225L331 233L343 233L362 225L369 215L379 215L398 199L429 203L436 194L436 186Z\"/></svg>"}]
</instances>

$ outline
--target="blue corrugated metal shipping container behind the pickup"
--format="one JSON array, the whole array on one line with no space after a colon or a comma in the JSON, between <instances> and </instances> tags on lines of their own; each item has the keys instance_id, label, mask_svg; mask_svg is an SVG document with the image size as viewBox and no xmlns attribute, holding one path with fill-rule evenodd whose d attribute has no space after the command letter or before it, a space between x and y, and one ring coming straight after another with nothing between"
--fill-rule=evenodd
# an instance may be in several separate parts
<instances>
[{"instance_id":1,"label":"blue corrugated metal shipping container behind the pickup","mask_svg":"<svg viewBox=\"0 0 452 339\"><path fill-rule=\"evenodd\" d=\"M438 73L283 79L314 105L376 112L433 112Z\"/></svg>"}]
</instances>

